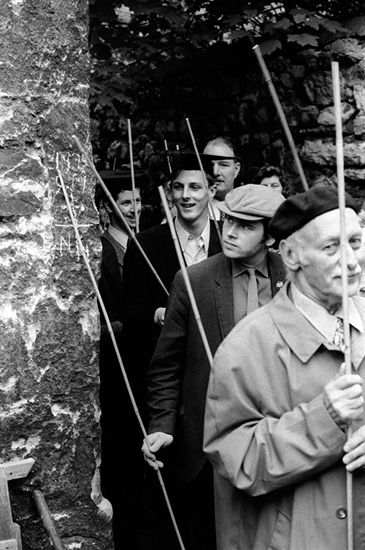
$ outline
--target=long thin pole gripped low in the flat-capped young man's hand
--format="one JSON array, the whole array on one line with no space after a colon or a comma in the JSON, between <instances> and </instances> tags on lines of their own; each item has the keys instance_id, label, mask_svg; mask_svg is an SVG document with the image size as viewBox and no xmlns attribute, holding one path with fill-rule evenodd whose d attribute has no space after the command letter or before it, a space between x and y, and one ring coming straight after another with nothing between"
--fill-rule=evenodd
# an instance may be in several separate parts
<instances>
[{"instance_id":1,"label":"long thin pole gripped low in the flat-capped young man's hand","mask_svg":"<svg viewBox=\"0 0 365 550\"><path fill-rule=\"evenodd\" d=\"M137 403L136 403L136 400L134 398L132 388L129 384L128 376L127 376L126 370L125 370L124 365L123 365L123 361L122 361L122 357L121 357L120 352L119 352L117 341L116 341L115 336L114 336L113 327L111 325L108 313L106 311L106 308L105 308L105 305L104 305L104 302L103 302L103 299L101 297L101 294L100 294L100 291L99 291L99 288L98 288L98 284L97 284L96 279L94 277L94 274L91 270L90 263L87 259L86 252L85 252L84 246L82 244L80 233L79 233L79 230L78 230L78 227L77 227L76 219L75 219L75 216L73 215L73 212L72 212L71 204L70 204L70 201L69 201L69 198L68 198L68 194L67 194L66 187L65 187L65 184L64 184L64 181L63 181L63 177L62 177L61 171L60 171L58 166L57 166L57 174L58 174L58 178L60 180L63 195L65 197L68 212L70 214L71 222L72 222L72 225L73 225L73 228L74 228L74 231L75 231L76 240L77 240L77 243L79 245L79 249L80 249L81 255L83 257L84 263L86 265L87 271L89 273L90 280L91 280L92 285L94 287L95 294L98 298L100 308L103 312L105 322L106 322L106 325L107 325L107 328L108 328L108 332L109 332L109 335L110 335L110 338L111 338L111 341L112 341L112 344L113 344L113 347L114 347L114 351L115 351L117 359L118 359L120 370L122 371L124 383L126 385L126 388L127 388L128 395L129 395L129 398L130 398L131 403L132 403L134 413L137 417L137 420L138 420L139 426L141 428L144 440L146 441L146 445L147 445L147 447L149 447L147 432L146 432L146 429L144 427L140 412L138 410ZM179 532L179 529L178 529L178 526L177 526L177 523L176 523L176 519L175 519L174 513L173 513L172 508L171 508L170 500L169 500L169 497L167 495L166 487L165 487L164 481L162 479L160 469L159 469L157 464L156 464L156 466L157 466L156 472L157 472L158 480L159 480L162 492L163 492L164 497L165 497L165 501L166 501L166 505L167 505L167 508L169 510L169 513L170 513L171 521L172 521L172 523L174 525L174 528L175 528L176 536L179 540L179 544L180 544L181 549L185 550L185 547L184 547L184 544L183 544L183 541L182 541L182 538L181 538L181 535L180 535L180 532Z\"/></svg>"}]
</instances>

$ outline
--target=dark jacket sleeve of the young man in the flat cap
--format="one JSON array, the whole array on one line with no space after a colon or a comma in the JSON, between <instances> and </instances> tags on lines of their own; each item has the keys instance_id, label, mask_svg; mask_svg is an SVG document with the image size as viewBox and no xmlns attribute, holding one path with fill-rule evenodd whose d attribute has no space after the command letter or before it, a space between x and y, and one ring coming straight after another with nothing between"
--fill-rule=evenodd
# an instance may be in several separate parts
<instances>
[{"instance_id":1,"label":"dark jacket sleeve of the young man in the flat cap","mask_svg":"<svg viewBox=\"0 0 365 550\"><path fill-rule=\"evenodd\" d=\"M189 309L189 298L180 271L171 287L165 323L148 369L150 433L174 433L186 359Z\"/></svg>"}]
</instances>

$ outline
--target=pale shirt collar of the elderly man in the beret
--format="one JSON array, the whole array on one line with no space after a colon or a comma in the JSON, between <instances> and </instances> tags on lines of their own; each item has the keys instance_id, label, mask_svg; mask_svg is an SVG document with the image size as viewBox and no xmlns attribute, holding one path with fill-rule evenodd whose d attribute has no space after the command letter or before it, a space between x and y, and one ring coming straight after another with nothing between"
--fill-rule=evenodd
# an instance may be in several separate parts
<instances>
[{"instance_id":1,"label":"pale shirt collar of the elderly man in the beret","mask_svg":"<svg viewBox=\"0 0 365 550\"><path fill-rule=\"evenodd\" d=\"M329 342L332 342L336 331L337 317L343 319L342 305L335 315L331 315L323 306L303 294L294 283L291 290L295 307L308 319L315 329L325 336ZM350 325L362 333L364 329L360 313L351 298L349 298L348 306Z\"/></svg>"}]
</instances>

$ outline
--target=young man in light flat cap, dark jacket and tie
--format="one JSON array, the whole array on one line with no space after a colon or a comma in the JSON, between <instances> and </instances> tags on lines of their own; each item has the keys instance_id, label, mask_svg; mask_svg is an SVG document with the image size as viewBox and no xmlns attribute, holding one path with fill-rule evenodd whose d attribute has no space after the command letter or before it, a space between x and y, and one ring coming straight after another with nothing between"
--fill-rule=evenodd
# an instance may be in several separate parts
<instances>
[{"instance_id":1,"label":"young man in light flat cap, dark jacket and tie","mask_svg":"<svg viewBox=\"0 0 365 550\"><path fill-rule=\"evenodd\" d=\"M250 309L268 303L283 285L281 258L269 252L274 240L268 233L269 220L283 200L279 193L256 185L228 193L219 203L225 213L223 252L188 268L212 354ZM203 453L209 371L180 271L148 371L151 452L146 443L143 451L155 467L155 453L169 448L166 466L179 480L171 495L173 508L189 550L215 550L213 472Z\"/></svg>"}]
</instances>

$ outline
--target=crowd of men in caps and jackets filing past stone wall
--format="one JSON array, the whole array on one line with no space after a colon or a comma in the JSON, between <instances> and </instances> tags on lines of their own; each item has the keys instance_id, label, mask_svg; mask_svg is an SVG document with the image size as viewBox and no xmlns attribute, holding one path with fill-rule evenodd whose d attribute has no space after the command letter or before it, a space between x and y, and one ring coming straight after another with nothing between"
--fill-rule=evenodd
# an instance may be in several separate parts
<instances>
[{"instance_id":1,"label":"crowd of men in caps and jackets filing past stone wall","mask_svg":"<svg viewBox=\"0 0 365 550\"><path fill-rule=\"evenodd\" d=\"M349 374L337 191L285 199L273 166L235 186L240 159L224 138L204 148L204 173L195 155L178 157L173 223L212 364L169 225L136 236L163 288L124 226L141 212L138 181L132 192L129 177L104 174L125 222L104 197L100 290L148 433L102 318L101 483L115 549L181 548L158 468L186 550L342 550L353 472L354 549L365 548L357 204L346 195Z\"/></svg>"}]
</instances>

